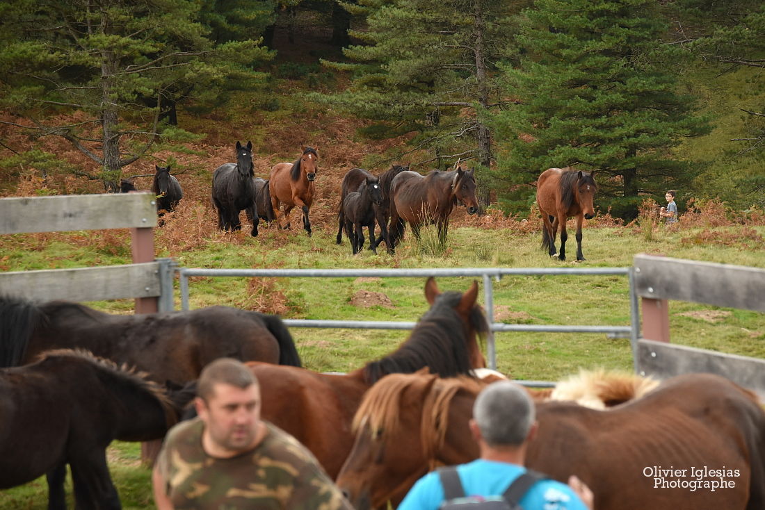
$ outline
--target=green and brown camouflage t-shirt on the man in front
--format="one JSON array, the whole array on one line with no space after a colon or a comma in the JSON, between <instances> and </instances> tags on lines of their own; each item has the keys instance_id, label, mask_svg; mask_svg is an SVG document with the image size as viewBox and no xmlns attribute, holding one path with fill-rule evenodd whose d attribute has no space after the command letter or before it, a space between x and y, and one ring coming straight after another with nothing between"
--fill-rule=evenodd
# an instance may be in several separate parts
<instances>
[{"instance_id":1,"label":"green and brown camouflage t-shirt on the man in front","mask_svg":"<svg viewBox=\"0 0 765 510\"><path fill-rule=\"evenodd\" d=\"M157 459L174 508L353 510L307 448L263 423L261 443L228 459L204 452L199 418L174 427Z\"/></svg>"}]
</instances>

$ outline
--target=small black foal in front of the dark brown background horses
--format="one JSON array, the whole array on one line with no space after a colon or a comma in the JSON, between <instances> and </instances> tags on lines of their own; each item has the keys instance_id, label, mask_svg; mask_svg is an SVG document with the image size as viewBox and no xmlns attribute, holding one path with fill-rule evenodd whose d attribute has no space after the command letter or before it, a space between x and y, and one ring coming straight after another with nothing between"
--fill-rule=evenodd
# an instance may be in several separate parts
<instances>
[{"instance_id":1,"label":"small black foal in front of the dark brown background horses","mask_svg":"<svg viewBox=\"0 0 765 510\"><path fill-rule=\"evenodd\" d=\"M343 200L343 216L345 218L345 232L350 239L353 255L361 251L364 245L364 230L369 229L369 249L375 254L375 211L374 206L382 204L379 179L366 177L359 189L348 193Z\"/></svg>"}]
</instances>

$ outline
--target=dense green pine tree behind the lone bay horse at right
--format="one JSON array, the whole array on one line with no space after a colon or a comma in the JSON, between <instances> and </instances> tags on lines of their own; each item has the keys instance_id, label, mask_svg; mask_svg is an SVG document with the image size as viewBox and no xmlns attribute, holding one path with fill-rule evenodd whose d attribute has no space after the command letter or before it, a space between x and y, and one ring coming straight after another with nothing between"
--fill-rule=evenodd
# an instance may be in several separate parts
<instances>
[{"instance_id":1,"label":"dense green pine tree behind the lone bay horse at right","mask_svg":"<svg viewBox=\"0 0 765 510\"><path fill-rule=\"evenodd\" d=\"M599 205L626 219L641 195L688 183L692 162L670 149L709 127L679 93L686 57L662 41L656 2L538 0L519 24L525 54L505 76L520 104L496 119L506 209L528 211L532 183L549 167L597 169Z\"/></svg>"}]
</instances>

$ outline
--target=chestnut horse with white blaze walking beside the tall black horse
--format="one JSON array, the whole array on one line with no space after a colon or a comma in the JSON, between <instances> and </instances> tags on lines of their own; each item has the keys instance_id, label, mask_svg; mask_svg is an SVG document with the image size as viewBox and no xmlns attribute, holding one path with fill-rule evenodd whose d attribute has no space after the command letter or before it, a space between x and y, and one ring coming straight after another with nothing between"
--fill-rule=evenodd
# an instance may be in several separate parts
<instances>
[{"instance_id":1,"label":"chestnut horse with white blaze walking beside the tall black horse","mask_svg":"<svg viewBox=\"0 0 765 510\"><path fill-rule=\"evenodd\" d=\"M314 201L314 179L316 179L317 160L319 155L312 147L303 147L300 158L292 163L278 163L271 169L269 187L271 191L271 206L276 214L276 224L279 228L279 206L284 204L282 213L287 219L285 229L290 228L289 213L298 206L303 212L303 228L311 237L311 221L308 210Z\"/></svg>"}]
</instances>

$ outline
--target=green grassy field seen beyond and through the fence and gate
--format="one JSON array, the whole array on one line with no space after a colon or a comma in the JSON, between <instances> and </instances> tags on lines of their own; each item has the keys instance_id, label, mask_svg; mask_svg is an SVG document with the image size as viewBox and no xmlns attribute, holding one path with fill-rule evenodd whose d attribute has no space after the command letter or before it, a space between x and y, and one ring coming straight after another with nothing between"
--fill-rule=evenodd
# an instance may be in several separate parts
<instances>
[{"instance_id":1,"label":"green grassy field seen beyond and through the fence and gate","mask_svg":"<svg viewBox=\"0 0 765 510\"><path fill-rule=\"evenodd\" d=\"M585 229L588 260L578 263L558 261L540 251L535 225L499 216L457 219L442 253L429 252L428 243L407 237L396 255L380 250L377 255L364 251L353 256L347 241L334 243L334 224L329 220L317 222L311 238L298 230L261 229L261 235L252 239L246 232L221 234L208 226L192 234L187 226L194 224L189 219L193 208L168 218L156 236L158 255L172 256L188 268L621 268L632 265L636 253L765 268L765 227L757 225L689 222L670 231L662 226L649 229L645 224L601 222ZM120 264L130 258L129 235L121 231L5 236L0 238L0 250L3 271ZM573 248L569 250L574 253ZM422 278L193 278L190 300L192 307L225 304L290 318L409 321L427 310L424 283ZM470 278L438 280L442 291L464 291L470 283ZM354 304L360 292L376 304ZM175 298L180 308L177 289ZM132 300L91 305L112 313L132 313ZM630 323L629 285L623 276L506 277L494 282L494 305L495 320L505 323ZM670 330L675 343L765 357L762 313L672 302ZM407 335L405 331L306 328L292 328L291 333L304 366L341 372L386 355ZM522 379L558 380L580 368L632 368L629 340L603 334L499 333L496 353L498 369ZM148 469L140 466L138 445L116 443L109 455L123 507L151 506ZM46 505L44 479L0 494L0 508Z\"/></svg>"}]
</instances>

